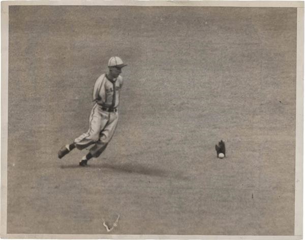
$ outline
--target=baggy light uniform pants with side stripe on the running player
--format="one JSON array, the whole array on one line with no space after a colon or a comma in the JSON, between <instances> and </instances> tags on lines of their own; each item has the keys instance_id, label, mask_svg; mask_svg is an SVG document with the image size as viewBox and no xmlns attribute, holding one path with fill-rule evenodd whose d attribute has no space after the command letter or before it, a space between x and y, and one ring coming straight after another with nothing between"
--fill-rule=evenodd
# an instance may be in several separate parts
<instances>
[{"instance_id":1,"label":"baggy light uniform pants with side stripe on the running player","mask_svg":"<svg viewBox=\"0 0 305 240\"><path fill-rule=\"evenodd\" d=\"M98 157L106 149L112 139L117 126L118 113L102 110L102 106L95 104L89 117L89 129L74 140L77 149L82 150L92 144L90 153Z\"/></svg>"}]
</instances>

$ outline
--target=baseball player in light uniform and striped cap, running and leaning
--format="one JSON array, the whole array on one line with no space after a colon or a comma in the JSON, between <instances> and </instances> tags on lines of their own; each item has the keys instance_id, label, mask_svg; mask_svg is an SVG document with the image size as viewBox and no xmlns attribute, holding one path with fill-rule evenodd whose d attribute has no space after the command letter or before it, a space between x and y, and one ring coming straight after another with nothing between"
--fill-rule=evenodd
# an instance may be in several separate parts
<instances>
[{"instance_id":1,"label":"baseball player in light uniform and striped cap, running and leaning","mask_svg":"<svg viewBox=\"0 0 305 240\"><path fill-rule=\"evenodd\" d=\"M58 152L58 158L64 157L74 148L82 150L93 145L79 162L80 166L86 166L89 159L100 156L106 149L117 126L119 91L123 85L120 73L126 65L119 57L109 59L108 72L102 74L94 85L95 105L90 113L88 131L81 134L73 143L62 147Z\"/></svg>"}]
</instances>

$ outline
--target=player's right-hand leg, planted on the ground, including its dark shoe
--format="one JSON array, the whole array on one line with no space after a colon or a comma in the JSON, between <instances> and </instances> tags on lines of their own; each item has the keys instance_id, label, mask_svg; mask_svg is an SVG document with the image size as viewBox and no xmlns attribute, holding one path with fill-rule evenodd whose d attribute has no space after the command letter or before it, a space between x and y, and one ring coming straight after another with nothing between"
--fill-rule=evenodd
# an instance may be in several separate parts
<instances>
[{"instance_id":1,"label":"player's right-hand leg, planted on the ground, including its dark shoe","mask_svg":"<svg viewBox=\"0 0 305 240\"><path fill-rule=\"evenodd\" d=\"M79 163L80 165L86 165L89 159L93 157L99 157L102 154L102 152L104 152L108 143L112 139L112 136L114 135L117 122L118 122L118 114L110 113L109 121L100 133L99 141L95 143L95 145L90 149L89 153L86 156L83 156L82 160Z\"/></svg>"}]
</instances>

